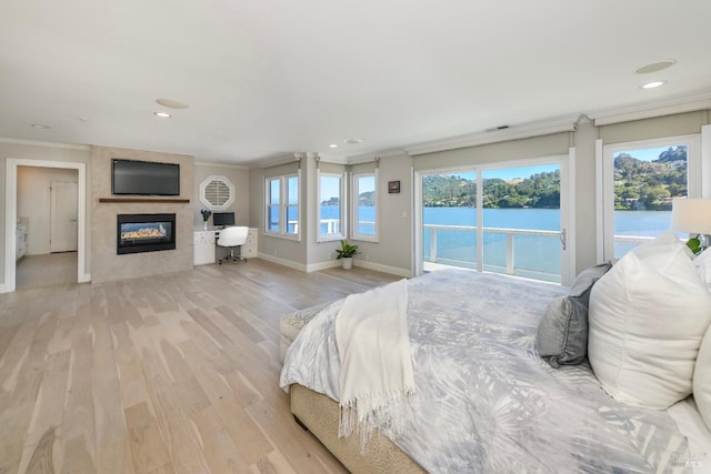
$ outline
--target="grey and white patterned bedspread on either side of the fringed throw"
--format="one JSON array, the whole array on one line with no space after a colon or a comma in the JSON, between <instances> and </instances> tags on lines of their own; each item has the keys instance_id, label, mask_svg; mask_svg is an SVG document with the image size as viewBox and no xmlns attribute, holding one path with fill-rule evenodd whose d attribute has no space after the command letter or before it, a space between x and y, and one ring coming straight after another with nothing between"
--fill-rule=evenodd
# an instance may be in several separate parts
<instances>
[{"instance_id":1,"label":"grey and white patterned bedspread on either side of the fringed throw","mask_svg":"<svg viewBox=\"0 0 711 474\"><path fill-rule=\"evenodd\" d=\"M552 369L538 322L565 289L447 270L409 281L415 407L392 440L431 473L648 473L684 467L685 437L667 411L610 399L587 363ZM294 341L280 385L338 401L339 357L327 306Z\"/></svg>"}]
</instances>

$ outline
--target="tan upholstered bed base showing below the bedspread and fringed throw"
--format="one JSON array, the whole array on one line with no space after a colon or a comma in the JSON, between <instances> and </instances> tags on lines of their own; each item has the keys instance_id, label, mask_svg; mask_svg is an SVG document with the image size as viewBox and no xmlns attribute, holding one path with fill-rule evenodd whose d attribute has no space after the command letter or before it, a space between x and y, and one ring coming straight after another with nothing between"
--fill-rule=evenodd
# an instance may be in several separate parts
<instances>
[{"instance_id":1,"label":"tan upholstered bed base showing below the bedspread and fringed throw","mask_svg":"<svg viewBox=\"0 0 711 474\"><path fill-rule=\"evenodd\" d=\"M360 455L358 435L338 437L338 403L301 385L291 385L291 413L351 473L424 473L385 436L373 434Z\"/></svg>"}]
</instances>

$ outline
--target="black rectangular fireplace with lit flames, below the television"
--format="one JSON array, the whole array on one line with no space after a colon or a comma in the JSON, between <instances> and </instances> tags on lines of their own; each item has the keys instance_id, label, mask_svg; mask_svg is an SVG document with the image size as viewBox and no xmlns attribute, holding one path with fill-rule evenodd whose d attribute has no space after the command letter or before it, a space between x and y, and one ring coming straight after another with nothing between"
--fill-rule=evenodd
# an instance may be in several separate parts
<instances>
[{"instance_id":1,"label":"black rectangular fireplace with lit flames, below the television","mask_svg":"<svg viewBox=\"0 0 711 474\"><path fill-rule=\"evenodd\" d=\"M117 216L119 255L176 249L176 214L119 214Z\"/></svg>"}]
</instances>

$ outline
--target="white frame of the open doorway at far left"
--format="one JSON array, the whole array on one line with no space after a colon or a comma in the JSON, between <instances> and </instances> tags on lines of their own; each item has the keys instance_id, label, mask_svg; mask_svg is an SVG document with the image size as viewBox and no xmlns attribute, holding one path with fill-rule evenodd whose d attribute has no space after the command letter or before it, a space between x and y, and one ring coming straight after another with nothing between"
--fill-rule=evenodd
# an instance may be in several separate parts
<instances>
[{"instance_id":1,"label":"white frame of the open doorway at far left","mask_svg":"<svg viewBox=\"0 0 711 474\"><path fill-rule=\"evenodd\" d=\"M4 284L0 293L16 290L16 223L18 221L18 167L61 168L77 170L77 282L91 281L84 271L87 261L87 164L70 161L31 160L8 158L6 160L4 191Z\"/></svg>"}]
</instances>

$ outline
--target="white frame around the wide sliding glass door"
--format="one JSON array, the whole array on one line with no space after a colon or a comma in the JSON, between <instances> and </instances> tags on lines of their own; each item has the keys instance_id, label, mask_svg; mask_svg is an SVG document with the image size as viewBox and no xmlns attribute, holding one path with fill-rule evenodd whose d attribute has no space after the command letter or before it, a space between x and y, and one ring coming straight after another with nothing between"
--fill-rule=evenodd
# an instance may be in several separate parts
<instances>
[{"instance_id":1,"label":"white frame around the wide sliding glass door","mask_svg":"<svg viewBox=\"0 0 711 474\"><path fill-rule=\"evenodd\" d=\"M564 230L565 245L561 250L561 284L569 285L572 279L575 276L575 216L574 216L574 177L575 177L575 148L571 147L568 150L568 154L557 154L550 157L529 158L522 160L511 160L491 163L478 163L472 165L460 165L455 168L442 168L431 170L418 170L414 173L414 274L421 275L424 271L424 260L422 255L423 238L422 238L422 178L431 174L453 174L458 172L475 172L478 180L478 191L483 190L483 172L494 170L499 168L522 168L522 167L535 167L538 164L558 163L560 165L560 226L561 231ZM481 193L477 193L477 205L482 208ZM477 213L477 228L479 229L478 241L478 270L482 270L482 239L481 233L483 219L482 213Z\"/></svg>"}]
</instances>

